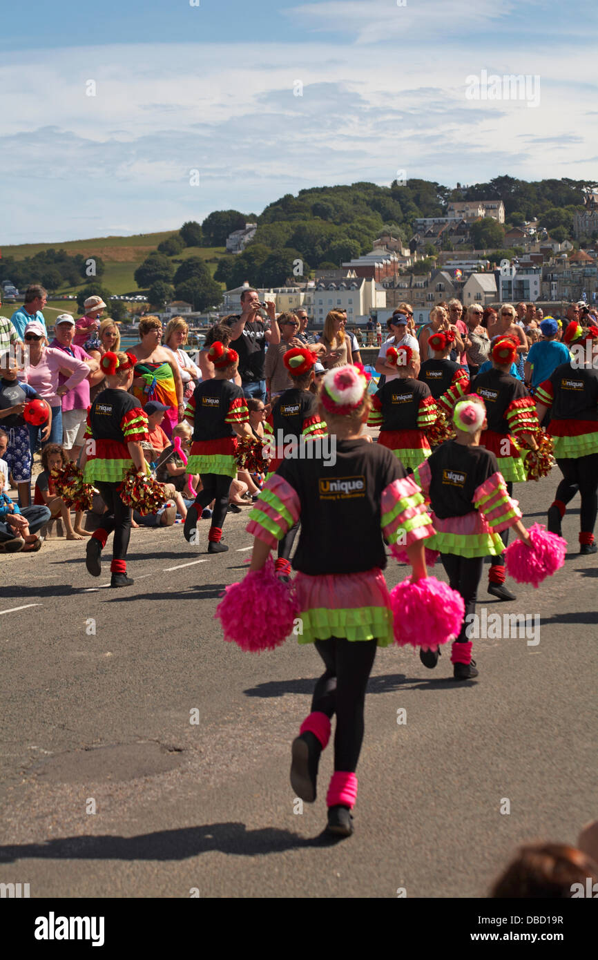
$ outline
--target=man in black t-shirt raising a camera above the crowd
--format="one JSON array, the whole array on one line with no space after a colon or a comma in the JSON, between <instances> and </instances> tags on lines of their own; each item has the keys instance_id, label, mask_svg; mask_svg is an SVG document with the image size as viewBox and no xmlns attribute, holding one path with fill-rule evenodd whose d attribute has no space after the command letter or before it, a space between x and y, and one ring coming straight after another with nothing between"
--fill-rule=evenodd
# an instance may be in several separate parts
<instances>
[{"instance_id":1,"label":"man in black t-shirt raising a camera above the crowd","mask_svg":"<svg viewBox=\"0 0 598 960\"><path fill-rule=\"evenodd\" d=\"M270 320L270 328L258 317L265 309ZM275 304L268 301L261 304L257 290L248 288L241 294L242 313L237 320L227 321L230 326L228 347L239 354L239 373L245 396L255 396L266 402L266 345L280 343L280 329L276 323Z\"/></svg>"}]
</instances>

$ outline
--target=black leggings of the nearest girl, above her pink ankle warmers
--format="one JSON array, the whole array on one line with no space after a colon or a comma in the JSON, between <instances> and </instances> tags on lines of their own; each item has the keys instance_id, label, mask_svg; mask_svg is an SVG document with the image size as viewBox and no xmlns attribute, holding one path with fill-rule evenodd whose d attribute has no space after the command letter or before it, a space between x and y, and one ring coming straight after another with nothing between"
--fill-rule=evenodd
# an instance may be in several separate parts
<instances>
[{"instance_id":1,"label":"black leggings of the nearest girl, above her pink ankle warmers","mask_svg":"<svg viewBox=\"0 0 598 960\"><path fill-rule=\"evenodd\" d=\"M325 672L316 684L312 712L336 713L334 769L355 773L364 738L366 687L376 655L376 640L330 636L316 640Z\"/></svg>"}]
</instances>

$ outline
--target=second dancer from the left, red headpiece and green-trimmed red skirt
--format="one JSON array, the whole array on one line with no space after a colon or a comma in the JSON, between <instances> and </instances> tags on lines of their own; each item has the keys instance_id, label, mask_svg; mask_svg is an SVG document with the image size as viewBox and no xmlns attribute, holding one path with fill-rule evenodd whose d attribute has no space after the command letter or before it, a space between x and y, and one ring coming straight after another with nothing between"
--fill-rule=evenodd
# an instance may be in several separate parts
<instances>
[{"instance_id":1,"label":"second dancer from the left, red headpiece and green-trimmed red skirt","mask_svg":"<svg viewBox=\"0 0 598 960\"><path fill-rule=\"evenodd\" d=\"M216 341L207 355L216 375L211 380L203 380L195 388L185 408L185 417L193 426L187 473L199 473L203 489L187 511L183 530L187 542L194 540L198 517L214 500L207 552L224 553L228 547L221 542L222 528L227 516L230 484L237 472L237 435L251 437L250 416L243 390L230 382L239 362L236 350Z\"/></svg>"}]
</instances>

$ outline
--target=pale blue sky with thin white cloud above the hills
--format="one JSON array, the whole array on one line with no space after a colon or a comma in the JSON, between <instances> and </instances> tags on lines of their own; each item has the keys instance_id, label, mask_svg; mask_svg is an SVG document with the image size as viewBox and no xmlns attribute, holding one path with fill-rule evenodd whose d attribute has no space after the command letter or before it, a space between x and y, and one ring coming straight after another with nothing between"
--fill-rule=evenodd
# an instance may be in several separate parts
<instances>
[{"instance_id":1,"label":"pale blue sky with thin white cloud above the hills","mask_svg":"<svg viewBox=\"0 0 598 960\"><path fill-rule=\"evenodd\" d=\"M597 18L594 0L12 4L0 246L358 180L592 180Z\"/></svg>"}]
</instances>

